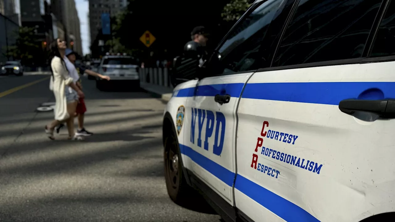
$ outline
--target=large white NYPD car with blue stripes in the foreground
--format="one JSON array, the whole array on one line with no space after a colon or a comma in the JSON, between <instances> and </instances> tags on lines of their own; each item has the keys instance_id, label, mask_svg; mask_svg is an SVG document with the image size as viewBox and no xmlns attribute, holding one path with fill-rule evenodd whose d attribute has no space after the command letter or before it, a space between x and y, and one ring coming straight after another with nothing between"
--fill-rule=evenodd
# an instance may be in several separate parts
<instances>
[{"instance_id":1,"label":"large white NYPD car with blue stripes in the foreground","mask_svg":"<svg viewBox=\"0 0 395 222\"><path fill-rule=\"evenodd\" d=\"M226 221L394 221L394 28L391 0L254 2L167 104L170 198L200 190Z\"/></svg>"}]
</instances>

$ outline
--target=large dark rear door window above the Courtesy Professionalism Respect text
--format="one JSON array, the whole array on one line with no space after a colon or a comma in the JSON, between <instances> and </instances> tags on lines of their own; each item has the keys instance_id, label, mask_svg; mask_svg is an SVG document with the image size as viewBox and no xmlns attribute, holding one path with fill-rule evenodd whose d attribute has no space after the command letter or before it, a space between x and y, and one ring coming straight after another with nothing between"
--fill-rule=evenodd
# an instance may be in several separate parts
<instances>
[{"instance_id":1,"label":"large dark rear door window above the Courtesy Professionalism Respect text","mask_svg":"<svg viewBox=\"0 0 395 222\"><path fill-rule=\"evenodd\" d=\"M273 66L359 58L382 0L301 0Z\"/></svg>"}]
</instances>

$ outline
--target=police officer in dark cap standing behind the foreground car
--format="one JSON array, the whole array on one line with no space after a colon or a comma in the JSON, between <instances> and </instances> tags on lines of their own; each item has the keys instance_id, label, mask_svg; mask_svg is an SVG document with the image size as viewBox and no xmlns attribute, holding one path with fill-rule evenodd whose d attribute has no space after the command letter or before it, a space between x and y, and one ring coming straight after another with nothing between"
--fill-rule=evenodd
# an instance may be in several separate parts
<instances>
[{"instance_id":1,"label":"police officer in dark cap standing behind the foreground car","mask_svg":"<svg viewBox=\"0 0 395 222\"><path fill-rule=\"evenodd\" d=\"M207 51L205 50L209 33L204 26L196 26L191 32L192 41L188 41L184 45L184 56L199 58L199 65L203 64Z\"/></svg>"}]
</instances>

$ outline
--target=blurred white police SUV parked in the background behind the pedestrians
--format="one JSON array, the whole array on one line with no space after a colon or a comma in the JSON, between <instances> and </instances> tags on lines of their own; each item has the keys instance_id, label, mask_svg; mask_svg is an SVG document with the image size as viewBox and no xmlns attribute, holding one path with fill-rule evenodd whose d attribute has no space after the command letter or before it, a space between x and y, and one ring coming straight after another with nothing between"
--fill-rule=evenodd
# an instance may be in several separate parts
<instances>
[{"instance_id":1,"label":"blurred white police SUV parked in the background behind the pedestrians","mask_svg":"<svg viewBox=\"0 0 395 222\"><path fill-rule=\"evenodd\" d=\"M105 88L107 84L126 83L130 87L140 87L139 66L137 60L126 54L103 56L98 73L111 77L110 81L96 77L96 87Z\"/></svg>"}]
</instances>

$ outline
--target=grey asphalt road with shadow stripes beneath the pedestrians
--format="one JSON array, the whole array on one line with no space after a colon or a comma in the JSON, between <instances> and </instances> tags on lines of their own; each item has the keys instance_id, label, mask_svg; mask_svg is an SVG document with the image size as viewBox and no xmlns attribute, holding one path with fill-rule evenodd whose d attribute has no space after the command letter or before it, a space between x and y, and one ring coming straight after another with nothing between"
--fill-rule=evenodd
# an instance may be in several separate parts
<instances>
[{"instance_id":1,"label":"grey asphalt road with shadow stripes beneath the pedestrians","mask_svg":"<svg viewBox=\"0 0 395 222\"><path fill-rule=\"evenodd\" d=\"M203 208L185 209L167 196L163 170L165 104L149 94L100 92L83 80L85 141L50 141L47 75L0 77L0 221L219 222ZM198 211L204 211L199 213Z\"/></svg>"}]
</instances>

